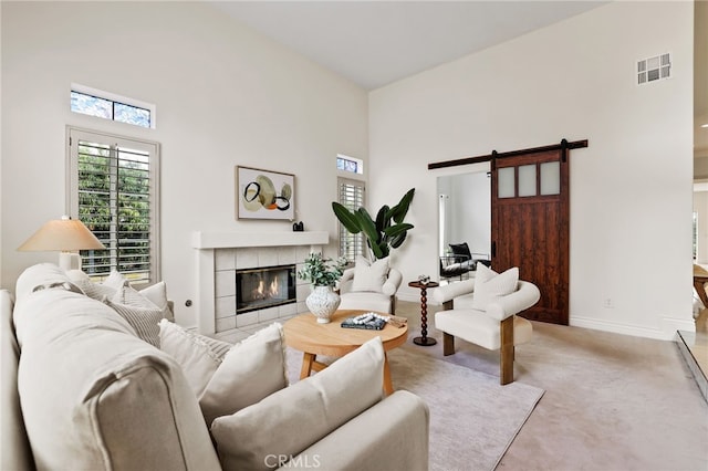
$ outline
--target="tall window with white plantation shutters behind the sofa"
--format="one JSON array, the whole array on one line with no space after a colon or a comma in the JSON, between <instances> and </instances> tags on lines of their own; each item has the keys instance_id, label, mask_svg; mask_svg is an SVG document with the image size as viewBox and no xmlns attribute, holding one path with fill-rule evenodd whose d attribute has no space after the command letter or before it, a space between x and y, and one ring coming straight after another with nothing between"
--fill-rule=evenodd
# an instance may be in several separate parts
<instances>
[{"instance_id":1,"label":"tall window with white plantation shutters behind the sofa","mask_svg":"<svg viewBox=\"0 0 708 471\"><path fill-rule=\"evenodd\" d=\"M159 280L159 146L69 128L69 212L107 250L81 252L83 271Z\"/></svg>"}]
</instances>

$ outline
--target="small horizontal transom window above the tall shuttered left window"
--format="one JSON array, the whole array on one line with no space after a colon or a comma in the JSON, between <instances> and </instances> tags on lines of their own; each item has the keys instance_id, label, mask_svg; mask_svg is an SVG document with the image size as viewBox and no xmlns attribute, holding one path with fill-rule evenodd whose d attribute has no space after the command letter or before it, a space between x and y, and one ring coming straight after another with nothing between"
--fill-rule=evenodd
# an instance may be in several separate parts
<instances>
[{"instance_id":1,"label":"small horizontal transom window above the tall shuttered left window","mask_svg":"<svg viewBox=\"0 0 708 471\"><path fill-rule=\"evenodd\" d=\"M72 84L71 111L140 127L155 127L155 105Z\"/></svg>"}]
</instances>

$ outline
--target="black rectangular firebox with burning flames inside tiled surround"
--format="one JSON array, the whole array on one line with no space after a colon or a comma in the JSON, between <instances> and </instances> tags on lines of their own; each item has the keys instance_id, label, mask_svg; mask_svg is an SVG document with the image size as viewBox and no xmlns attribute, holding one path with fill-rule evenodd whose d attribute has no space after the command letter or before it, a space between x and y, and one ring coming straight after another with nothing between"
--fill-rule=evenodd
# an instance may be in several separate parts
<instances>
[{"instance_id":1,"label":"black rectangular firebox with burning flames inside tiled surround","mask_svg":"<svg viewBox=\"0 0 708 471\"><path fill-rule=\"evenodd\" d=\"M295 265L237 270L236 314L294 303L295 286Z\"/></svg>"}]
</instances>

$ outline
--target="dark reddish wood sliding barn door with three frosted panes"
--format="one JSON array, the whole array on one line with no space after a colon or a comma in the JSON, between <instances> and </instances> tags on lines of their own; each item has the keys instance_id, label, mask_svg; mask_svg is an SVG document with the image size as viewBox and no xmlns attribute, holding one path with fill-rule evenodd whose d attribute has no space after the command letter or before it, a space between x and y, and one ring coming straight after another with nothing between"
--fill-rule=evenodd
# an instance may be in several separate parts
<instances>
[{"instance_id":1,"label":"dark reddish wood sliding barn door with three frosted panes","mask_svg":"<svg viewBox=\"0 0 708 471\"><path fill-rule=\"evenodd\" d=\"M519 278L539 286L541 300L523 317L568 325L568 150L492 159L492 268L519 266Z\"/></svg>"}]
</instances>

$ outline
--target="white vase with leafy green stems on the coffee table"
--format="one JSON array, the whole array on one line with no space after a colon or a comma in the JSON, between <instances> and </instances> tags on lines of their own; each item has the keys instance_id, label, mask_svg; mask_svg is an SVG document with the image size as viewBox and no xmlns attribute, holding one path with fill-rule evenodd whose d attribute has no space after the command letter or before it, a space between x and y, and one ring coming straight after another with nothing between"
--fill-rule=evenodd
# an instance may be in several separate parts
<instances>
[{"instance_id":1,"label":"white vase with leafy green stems on the coffee table","mask_svg":"<svg viewBox=\"0 0 708 471\"><path fill-rule=\"evenodd\" d=\"M317 323L327 324L330 317L340 306L340 295L334 292L334 285L342 278L346 259L336 261L324 259L321 253L310 253L298 278L312 283L312 293L305 300L308 308L317 318Z\"/></svg>"}]
</instances>

